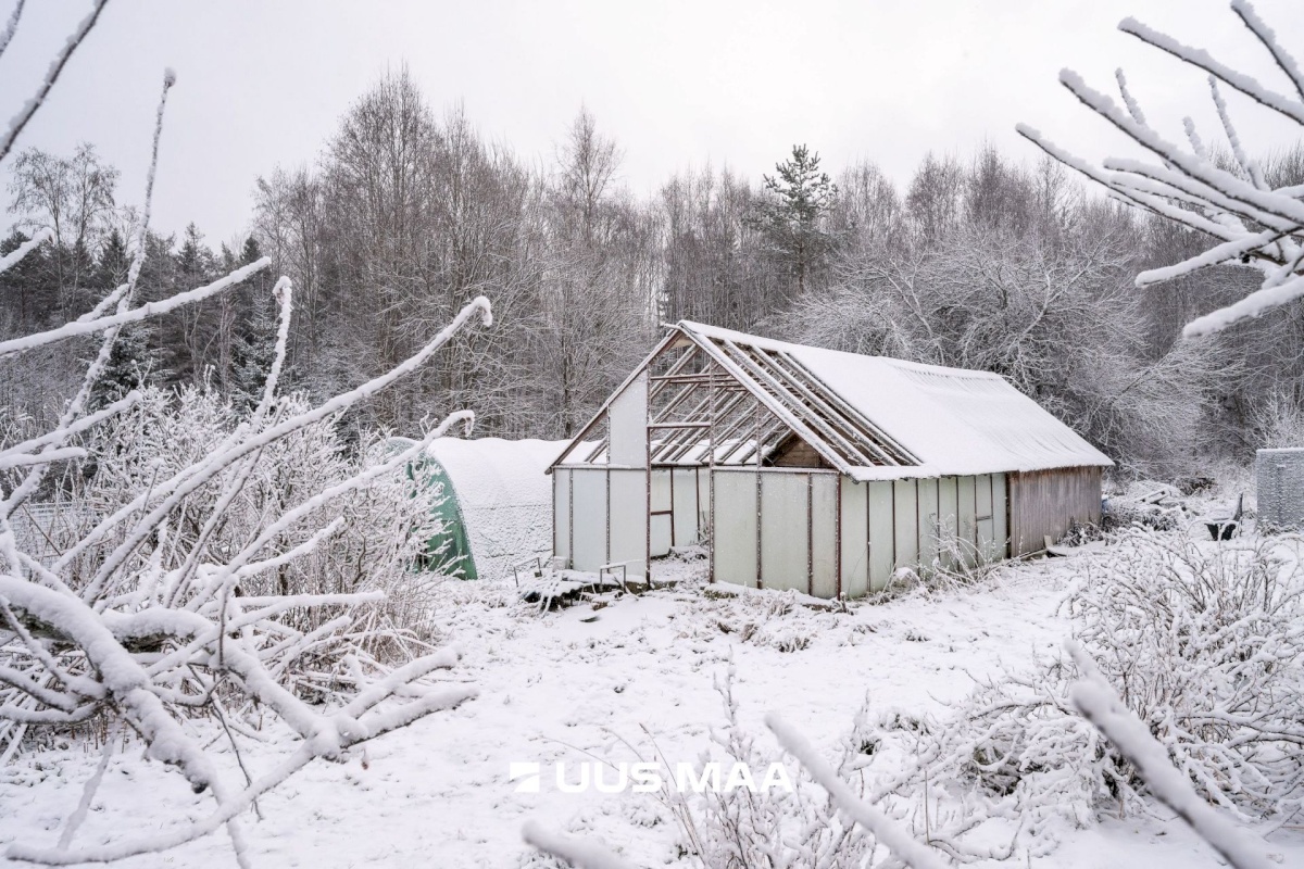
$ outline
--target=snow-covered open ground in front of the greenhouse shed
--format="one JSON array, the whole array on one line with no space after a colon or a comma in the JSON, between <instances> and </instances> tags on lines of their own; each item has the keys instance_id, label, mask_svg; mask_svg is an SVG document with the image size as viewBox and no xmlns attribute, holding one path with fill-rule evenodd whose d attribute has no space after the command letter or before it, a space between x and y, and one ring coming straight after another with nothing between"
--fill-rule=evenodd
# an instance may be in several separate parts
<instances>
[{"instance_id":1,"label":"snow-covered open ground in front of the greenhouse shed","mask_svg":"<svg viewBox=\"0 0 1304 869\"><path fill-rule=\"evenodd\" d=\"M866 702L875 709L938 711L974 677L1055 654L1068 636L1056 614L1068 559L1013 567L992 585L911 595L848 612L818 611L773 593L703 594L702 562L672 565L683 581L623 597L539 612L511 582L449 582L438 621L463 664L451 677L479 698L372 744L344 765L318 763L259 801L246 835L262 866L556 865L533 856L520 827L595 836L636 865L677 865L678 830L655 795L562 793L558 761L651 758L695 762L724 722L716 691L730 664L743 724L767 745L762 717L777 711L829 754ZM214 735L216 737L216 734ZM222 762L233 757L216 740ZM273 762L276 743L244 757ZM81 744L21 758L0 771L0 846L17 838L52 844L91 776L99 750ZM540 792L516 792L512 762L539 762ZM164 799L166 797L166 799ZM180 776L141 761L138 745L113 756L78 842L164 829L211 801ZM112 809L107 806L113 806ZM159 806L166 806L163 810ZM1277 844L1284 865L1304 865L1304 838ZM1218 866L1180 821L1110 819L1072 831L1041 865L1067 869ZM231 866L224 836L130 866Z\"/></svg>"}]
</instances>

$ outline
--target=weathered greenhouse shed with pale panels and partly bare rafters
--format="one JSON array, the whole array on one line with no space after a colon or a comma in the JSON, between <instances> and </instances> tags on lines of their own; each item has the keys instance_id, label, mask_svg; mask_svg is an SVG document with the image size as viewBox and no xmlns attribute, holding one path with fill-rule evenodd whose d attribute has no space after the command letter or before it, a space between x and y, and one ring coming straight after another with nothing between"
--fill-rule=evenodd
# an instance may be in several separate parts
<instances>
[{"instance_id":1,"label":"weathered greenhouse shed with pale panels and partly bare rafters","mask_svg":"<svg viewBox=\"0 0 1304 869\"><path fill-rule=\"evenodd\" d=\"M553 552L640 575L704 543L713 581L859 597L1098 522L1110 465L996 374L685 321L549 468Z\"/></svg>"}]
</instances>

